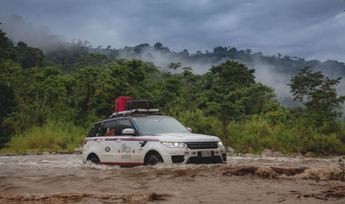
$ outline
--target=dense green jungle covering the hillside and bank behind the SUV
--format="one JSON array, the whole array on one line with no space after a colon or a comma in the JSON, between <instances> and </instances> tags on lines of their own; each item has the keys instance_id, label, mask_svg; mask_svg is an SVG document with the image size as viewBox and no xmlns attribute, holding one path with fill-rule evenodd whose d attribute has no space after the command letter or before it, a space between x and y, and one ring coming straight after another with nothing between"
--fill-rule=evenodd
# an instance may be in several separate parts
<instances>
[{"instance_id":1,"label":"dense green jungle covering the hillside and bank behind the SUV","mask_svg":"<svg viewBox=\"0 0 345 204\"><path fill-rule=\"evenodd\" d=\"M150 50L215 65L204 74L193 73L183 60L159 68L148 60ZM284 71L291 73L289 86L302 106L282 107L273 88L255 81L247 63L257 57L273 65L290 63ZM335 92L341 78L313 72L313 65L344 72L337 61L222 47L177 53L161 43L116 50L78 41L43 54L23 42L14 45L0 30L0 145L6 152L73 150L92 123L115 110L117 96L130 96L154 101L193 132L219 136L237 152L345 154L345 125L337 111L345 97Z\"/></svg>"}]
</instances>

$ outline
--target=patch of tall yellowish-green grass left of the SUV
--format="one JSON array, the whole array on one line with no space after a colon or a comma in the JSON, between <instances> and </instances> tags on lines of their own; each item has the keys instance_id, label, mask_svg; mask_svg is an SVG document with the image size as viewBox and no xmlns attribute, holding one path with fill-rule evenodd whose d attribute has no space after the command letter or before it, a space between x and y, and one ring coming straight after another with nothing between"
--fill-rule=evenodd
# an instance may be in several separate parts
<instances>
[{"instance_id":1,"label":"patch of tall yellowish-green grass left of the SUV","mask_svg":"<svg viewBox=\"0 0 345 204\"><path fill-rule=\"evenodd\" d=\"M85 128L72 122L48 121L41 127L32 127L12 136L4 152L72 151L79 147L86 136Z\"/></svg>"}]
</instances>

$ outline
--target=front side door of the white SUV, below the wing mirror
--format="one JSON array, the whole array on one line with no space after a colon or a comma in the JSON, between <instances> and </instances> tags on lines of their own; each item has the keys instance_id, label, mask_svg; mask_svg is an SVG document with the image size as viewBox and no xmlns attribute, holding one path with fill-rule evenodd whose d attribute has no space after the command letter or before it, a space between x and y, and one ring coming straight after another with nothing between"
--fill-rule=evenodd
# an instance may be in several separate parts
<instances>
[{"instance_id":1,"label":"front side door of the white SUV, below the wing mirror","mask_svg":"<svg viewBox=\"0 0 345 204\"><path fill-rule=\"evenodd\" d=\"M140 141L139 137L137 136L137 130L135 130L134 135L122 134L122 131L127 128L132 128L135 130L130 119L120 119L119 134L121 134L121 149L118 151L121 152L121 163L124 163L124 165L142 165L142 151L139 151L139 147L143 141Z\"/></svg>"}]
</instances>

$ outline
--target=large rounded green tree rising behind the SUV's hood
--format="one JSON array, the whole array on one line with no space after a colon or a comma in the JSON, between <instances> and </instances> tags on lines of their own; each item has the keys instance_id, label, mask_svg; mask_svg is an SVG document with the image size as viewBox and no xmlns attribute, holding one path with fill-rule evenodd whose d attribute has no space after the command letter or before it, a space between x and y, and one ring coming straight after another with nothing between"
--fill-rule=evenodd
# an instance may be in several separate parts
<instances>
[{"instance_id":1,"label":"large rounded green tree rising behind the SUV's hood","mask_svg":"<svg viewBox=\"0 0 345 204\"><path fill-rule=\"evenodd\" d=\"M256 109L262 110L266 98L270 98L266 94L272 91L266 86L255 85L254 72L242 63L227 60L210 68L201 79L203 93L197 99L198 106L204 108L206 116L216 115L220 119L224 135L227 135L226 127L230 121L244 119ZM258 92L261 89L263 91ZM265 100L256 104L257 97Z\"/></svg>"}]
</instances>

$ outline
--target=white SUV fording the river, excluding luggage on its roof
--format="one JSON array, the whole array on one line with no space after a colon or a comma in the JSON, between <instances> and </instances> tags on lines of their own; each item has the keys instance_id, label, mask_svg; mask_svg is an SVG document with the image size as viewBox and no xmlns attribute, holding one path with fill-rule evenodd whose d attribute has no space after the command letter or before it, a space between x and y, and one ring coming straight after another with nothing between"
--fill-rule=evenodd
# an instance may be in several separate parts
<instances>
[{"instance_id":1,"label":"white SUV fording the river, excluding luggage on its roof","mask_svg":"<svg viewBox=\"0 0 345 204\"><path fill-rule=\"evenodd\" d=\"M121 166L226 163L226 149L217 136L193 134L170 116L149 116L140 110L114 116L92 125L83 141L84 162Z\"/></svg>"}]
</instances>

